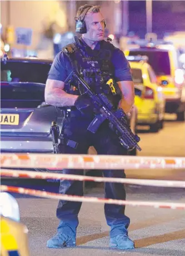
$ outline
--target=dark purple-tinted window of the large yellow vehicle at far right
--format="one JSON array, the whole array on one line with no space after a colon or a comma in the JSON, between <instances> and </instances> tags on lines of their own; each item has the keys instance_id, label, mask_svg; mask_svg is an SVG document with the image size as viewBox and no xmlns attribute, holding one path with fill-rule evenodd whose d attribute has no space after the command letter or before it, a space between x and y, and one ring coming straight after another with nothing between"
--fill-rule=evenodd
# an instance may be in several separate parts
<instances>
[{"instance_id":1,"label":"dark purple-tinted window of the large yellow vehicle at far right","mask_svg":"<svg viewBox=\"0 0 185 256\"><path fill-rule=\"evenodd\" d=\"M147 56L148 63L153 67L157 76L170 75L169 56L167 51L129 51L131 56Z\"/></svg>"}]
</instances>

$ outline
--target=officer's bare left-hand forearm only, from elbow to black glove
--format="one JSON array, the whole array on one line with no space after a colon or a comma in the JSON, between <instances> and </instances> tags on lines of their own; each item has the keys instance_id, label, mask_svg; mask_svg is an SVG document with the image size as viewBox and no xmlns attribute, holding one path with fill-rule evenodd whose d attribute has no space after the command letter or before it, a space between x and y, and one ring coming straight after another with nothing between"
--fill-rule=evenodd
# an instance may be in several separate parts
<instances>
[{"instance_id":1,"label":"officer's bare left-hand forearm only, from elbow to black glove","mask_svg":"<svg viewBox=\"0 0 185 256\"><path fill-rule=\"evenodd\" d=\"M46 103L49 105L64 107L64 106L74 106L78 95L71 95L61 88L55 88L51 92L45 95Z\"/></svg>"}]
</instances>

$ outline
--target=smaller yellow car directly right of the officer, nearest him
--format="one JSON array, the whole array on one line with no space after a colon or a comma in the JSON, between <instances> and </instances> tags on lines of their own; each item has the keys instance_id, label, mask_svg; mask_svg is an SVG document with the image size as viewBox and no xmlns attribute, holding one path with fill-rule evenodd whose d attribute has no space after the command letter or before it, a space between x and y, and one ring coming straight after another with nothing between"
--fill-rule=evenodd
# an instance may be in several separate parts
<instances>
[{"instance_id":1,"label":"smaller yellow car directly right of the officer, nearest him","mask_svg":"<svg viewBox=\"0 0 185 256\"><path fill-rule=\"evenodd\" d=\"M127 60L134 82L137 124L149 125L152 132L158 132L163 127L166 103L162 87L157 85L157 77L147 57L127 56Z\"/></svg>"}]
</instances>

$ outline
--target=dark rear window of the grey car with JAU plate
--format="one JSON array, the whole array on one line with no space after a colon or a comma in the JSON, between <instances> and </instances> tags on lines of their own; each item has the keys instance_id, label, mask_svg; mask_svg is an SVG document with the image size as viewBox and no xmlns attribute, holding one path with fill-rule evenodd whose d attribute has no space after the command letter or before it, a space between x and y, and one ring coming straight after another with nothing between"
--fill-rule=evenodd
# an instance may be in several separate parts
<instances>
[{"instance_id":1,"label":"dark rear window of the grey car with JAU plate","mask_svg":"<svg viewBox=\"0 0 185 256\"><path fill-rule=\"evenodd\" d=\"M49 63L1 62L1 81L46 83L50 67Z\"/></svg>"}]
</instances>

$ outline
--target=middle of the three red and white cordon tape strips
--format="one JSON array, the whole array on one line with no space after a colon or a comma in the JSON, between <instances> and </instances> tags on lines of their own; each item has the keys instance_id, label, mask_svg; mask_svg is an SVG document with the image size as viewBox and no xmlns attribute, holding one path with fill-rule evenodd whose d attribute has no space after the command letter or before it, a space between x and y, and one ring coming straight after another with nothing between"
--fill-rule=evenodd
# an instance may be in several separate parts
<instances>
[{"instance_id":1,"label":"middle of the three red and white cordon tape strips","mask_svg":"<svg viewBox=\"0 0 185 256\"><path fill-rule=\"evenodd\" d=\"M82 176L73 174L57 174L57 173L43 173L41 171L19 171L1 169L1 176L16 177L16 178L31 178L31 179L66 179L78 181L96 181L96 182L112 182L135 184L144 186L163 186L171 188L185 188L185 181L175 180L146 180L146 179L124 179L124 178L102 178L93 176Z\"/></svg>"}]
</instances>

